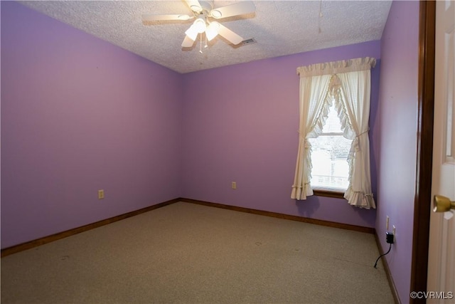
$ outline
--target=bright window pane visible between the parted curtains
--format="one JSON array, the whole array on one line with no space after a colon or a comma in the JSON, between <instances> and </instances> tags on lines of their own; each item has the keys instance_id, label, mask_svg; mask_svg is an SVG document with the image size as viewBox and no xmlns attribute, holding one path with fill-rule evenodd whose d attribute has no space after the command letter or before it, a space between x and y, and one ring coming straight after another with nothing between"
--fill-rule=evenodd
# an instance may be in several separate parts
<instances>
[{"instance_id":1,"label":"bright window pane visible between the parted curtains","mask_svg":"<svg viewBox=\"0 0 455 304\"><path fill-rule=\"evenodd\" d=\"M348 154L352 140L343 137L341 122L332 105L317 138L311 144L311 187L315 190L345 192L349 185Z\"/></svg>"}]
</instances>

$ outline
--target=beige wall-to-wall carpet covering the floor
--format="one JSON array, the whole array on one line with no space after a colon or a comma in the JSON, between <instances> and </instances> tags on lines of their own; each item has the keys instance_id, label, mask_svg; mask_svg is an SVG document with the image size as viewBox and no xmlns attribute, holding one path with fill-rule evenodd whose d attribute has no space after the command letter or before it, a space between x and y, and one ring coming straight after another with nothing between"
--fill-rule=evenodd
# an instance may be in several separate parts
<instances>
[{"instance_id":1,"label":"beige wall-to-wall carpet covering the floor","mask_svg":"<svg viewBox=\"0 0 455 304\"><path fill-rule=\"evenodd\" d=\"M393 303L372 234L176 203L1 258L1 303Z\"/></svg>"}]
</instances>

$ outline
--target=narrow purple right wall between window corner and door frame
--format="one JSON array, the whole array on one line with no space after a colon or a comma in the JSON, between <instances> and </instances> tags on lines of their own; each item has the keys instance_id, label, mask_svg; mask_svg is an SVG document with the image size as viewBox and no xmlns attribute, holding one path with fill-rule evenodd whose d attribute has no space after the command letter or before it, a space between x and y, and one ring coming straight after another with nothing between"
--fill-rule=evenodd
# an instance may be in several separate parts
<instances>
[{"instance_id":1,"label":"narrow purple right wall between window corner and door frame","mask_svg":"<svg viewBox=\"0 0 455 304\"><path fill-rule=\"evenodd\" d=\"M382 249L386 216L396 243L386 256L401 303L409 303L417 154L419 1L393 1L382 34L378 220Z\"/></svg>"}]
</instances>

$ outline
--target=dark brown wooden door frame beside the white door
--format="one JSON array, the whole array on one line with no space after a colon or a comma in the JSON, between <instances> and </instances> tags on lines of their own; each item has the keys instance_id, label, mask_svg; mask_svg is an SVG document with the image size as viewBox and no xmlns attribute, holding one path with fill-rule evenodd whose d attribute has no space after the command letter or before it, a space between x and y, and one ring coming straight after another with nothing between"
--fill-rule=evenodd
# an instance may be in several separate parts
<instances>
[{"instance_id":1,"label":"dark brown wooden door frame beside the white door","mask_svg":"<svg viewBox=\"0 0 455 304\"><path fill-rule=\"evenodd\" d=\"M427 291L429 218L432 201L434 36L436 1L420 1L417 164L410 291ZM410 303L425 303L412 299Z\"/></svg>"}]
</instances>

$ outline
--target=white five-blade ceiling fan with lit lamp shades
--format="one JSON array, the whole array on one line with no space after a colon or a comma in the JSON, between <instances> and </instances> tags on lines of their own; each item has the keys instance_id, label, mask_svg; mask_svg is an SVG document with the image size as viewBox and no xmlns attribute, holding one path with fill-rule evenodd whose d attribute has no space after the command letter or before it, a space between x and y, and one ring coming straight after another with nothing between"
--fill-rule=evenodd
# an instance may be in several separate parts
<instances>
[{"instance_id":1,"label":"white five-blade ceiling fan with lit lamp shades","mask_svg":"<svg viewBox=\"0 0 455 304\"><path fill-rule=\"evenodd\" d=\"M186 21L196 19L193 24L185 31L185 38L182 42L183 48L191 48L198 34L205 33L205 38L211 41L217 35L222 36L230 43L237 45L243 41L243 38L237 33L234 33L229 28L219 23L218 19L238 16L243 14L254 13L256 10L255 4L252 1L239 1L228 6L213 7L213 0L198 1L185 0L192 11L192 15L186 14L169 14L169 15L142 15L142 22L149 25L153 21ZM214 20L215 19L215 20Z\"/></svg>"}]
</instances>

